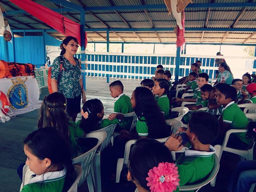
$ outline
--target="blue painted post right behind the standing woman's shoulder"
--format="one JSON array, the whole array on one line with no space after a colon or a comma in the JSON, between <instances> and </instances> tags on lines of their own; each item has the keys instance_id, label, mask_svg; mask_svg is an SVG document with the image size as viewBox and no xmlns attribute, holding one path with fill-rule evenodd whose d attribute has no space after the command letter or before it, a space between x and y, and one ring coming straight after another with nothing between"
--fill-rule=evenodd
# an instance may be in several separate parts
<instances>
[{"instance_id":1,"label":"blue painted post right behind the standing woman's shoulder","mask_svg":"<svg viewBox=\"0 0 256 192\"><path fill-rule=\"evenodd\" d=\"M81 63L82 82L86 90L86 68L85 68L85 11L80 11L80 36L81 36Z\"/></svg>"}]
</instances>

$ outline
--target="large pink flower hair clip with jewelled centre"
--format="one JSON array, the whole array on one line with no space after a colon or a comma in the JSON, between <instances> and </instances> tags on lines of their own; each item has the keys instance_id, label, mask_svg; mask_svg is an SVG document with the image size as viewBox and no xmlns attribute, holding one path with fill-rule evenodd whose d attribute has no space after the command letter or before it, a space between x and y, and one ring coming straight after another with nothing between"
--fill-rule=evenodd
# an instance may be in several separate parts
<instances>
[{"instance_id":1,"label":"large pink flower hair clip with jewelled centre","mask_svg":"<svg viewBox=\"0 0 256 192\"><path fill-rule=\"evenodd\" d=\"M147 186L151 192L173 192L179 185L178 167L174 163L162 162L148 172Z\"/></svg>"}]
</instances>

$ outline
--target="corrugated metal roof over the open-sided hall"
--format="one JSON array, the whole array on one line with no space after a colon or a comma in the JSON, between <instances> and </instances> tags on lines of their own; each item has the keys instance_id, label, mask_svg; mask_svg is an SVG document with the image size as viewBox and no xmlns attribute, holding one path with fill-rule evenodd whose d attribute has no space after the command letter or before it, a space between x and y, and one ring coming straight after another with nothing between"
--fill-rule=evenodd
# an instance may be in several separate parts
<instances>
[{"instance_id":1,"label":"corrugated metal roof over the open-sided hall","mask_svg":"<svg viewBox=\"0 0 256 192\"><path fill-rule=\"evenodd\" d=\"M33 1L50 9L60 9L61 7L55 4L54 2L57 1L54 0ZM164 5L164 0L69 0L69 2L85 9L93 8L90 11L86 10L85 14L86 28L88 30L95 29L95 31L88 31L89 41L106 41L106 31L102 30L110 28L110 41L176 42L173 32L176 20L172 14L168 14L164 6L158 6ZM186 41L255 44L255 3L256 0L193 0L193 4L185 9ZM218 4L227 6L218 6ZM243 4L244 6L234 6L234 4ZM13 30L51 29L50 26L38 21L28 13L8 14L10 11L20 10L9 0L0 0L0 6L6 10L6 17ZM126 6L126 9L119 7L115 10L110 6ZM137 7L135 8L135 6ZM148 8L142 6L148 6ZM62 6L62 8L66 7ZM78 10L62 13L71 20L80 22ZM158 28L160 29L158 30ZM140 29L144 30L140 31ZM56 38L64 38L64 35L58 32L48 32L48 34Z\"/></svg>"}]
</instances>

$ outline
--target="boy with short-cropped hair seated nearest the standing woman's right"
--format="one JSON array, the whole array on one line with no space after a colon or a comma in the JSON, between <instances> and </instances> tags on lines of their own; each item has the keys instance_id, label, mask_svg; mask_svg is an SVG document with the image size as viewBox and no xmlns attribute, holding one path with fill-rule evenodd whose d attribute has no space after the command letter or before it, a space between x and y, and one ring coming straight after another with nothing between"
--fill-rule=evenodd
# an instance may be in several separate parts
<instances>
[{"instance_id":1,"label":"boy with short-cropped hair seated nearest the standing woman's right","mask_svg":"<svg viewBox=\"0 0 256 192\"><path fill-rule=\"evenodd\" d=\"M132 104L130 97L125 95L124 86L120 80L116 80L109 85L110 95L113 98L117 98L117 101L114 104L114 112L127 114L133 112ZM124 118L118 125L122 129L130 130L132 123L131 118ZM118 130L118 128L116 129Z\"/></svg>"}]
</instances>

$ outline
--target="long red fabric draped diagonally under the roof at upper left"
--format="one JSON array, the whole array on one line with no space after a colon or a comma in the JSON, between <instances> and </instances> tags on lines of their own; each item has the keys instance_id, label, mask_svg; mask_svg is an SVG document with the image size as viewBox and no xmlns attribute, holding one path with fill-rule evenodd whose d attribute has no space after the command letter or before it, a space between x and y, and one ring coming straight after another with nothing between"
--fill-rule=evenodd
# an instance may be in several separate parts
<instances>
[{"instance_id":1,"label":"long red fabric draped diagonally under the roof at upper left","mask_svg":"<svg viewBox=\"0 0 256 192\"><path fill-rule=\"evenodd\" d=\"M80 24L62 16L61 14L50 10L32 0L10 0L16 6L22 8L32 16L38 18L40 21L48 24L64 36L73 36L77 38L81 45ZM87 37L85 34L85 45L87 44Z\"/></svg>"}]
</instances>

